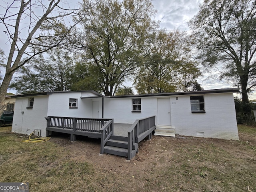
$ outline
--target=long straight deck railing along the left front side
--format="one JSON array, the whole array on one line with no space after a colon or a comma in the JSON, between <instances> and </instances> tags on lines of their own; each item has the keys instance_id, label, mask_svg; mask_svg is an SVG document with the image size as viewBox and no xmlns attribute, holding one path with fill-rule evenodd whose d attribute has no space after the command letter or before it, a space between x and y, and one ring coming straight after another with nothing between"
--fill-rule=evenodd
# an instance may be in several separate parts
<instances>
[{"instance_id":1,"label":"long straight deck railing along the left front side","mask_svg":"<svg viewBox=\"0 0 256 192\"><path fill-rule=\"evenodd\" d=\"M73 131L101 132L104 125L112 119L46 117L47 127L70 129Z\"/></svg>"}]
</instances>

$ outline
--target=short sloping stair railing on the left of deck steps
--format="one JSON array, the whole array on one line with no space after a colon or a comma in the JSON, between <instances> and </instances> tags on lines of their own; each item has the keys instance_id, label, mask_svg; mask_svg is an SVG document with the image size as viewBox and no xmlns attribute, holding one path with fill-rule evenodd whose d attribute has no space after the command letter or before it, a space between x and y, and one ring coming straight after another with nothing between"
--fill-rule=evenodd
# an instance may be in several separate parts
<instances>
[{"instance_id":1,"label":"short sloping stair railing on the left of deck steps","mask_svg":"<svg viewBox=\"0 0 256 192\"><path fill-rule=\"evenodd\" d=\"M114 119L109 120L101 129L100 154L104 153L104 146L114 132Z\"/></svg>"}]
</instances>

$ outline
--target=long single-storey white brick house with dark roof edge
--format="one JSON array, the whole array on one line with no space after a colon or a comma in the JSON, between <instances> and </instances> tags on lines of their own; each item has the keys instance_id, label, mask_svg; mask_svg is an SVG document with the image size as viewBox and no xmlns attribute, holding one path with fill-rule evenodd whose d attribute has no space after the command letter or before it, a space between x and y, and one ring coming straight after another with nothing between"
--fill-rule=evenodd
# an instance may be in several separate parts
<instances>
[{"instance_id":1,"label":"long single-storey white brick house with dark roof edge","mask_svg":"<svg viewBox=\"0 0 256 192\"><path fill-rule=\"evenodd\" d=\"M46 136L47 116L110 118L133 124L156 116L156 134L238 140L233 93L216 89L129 96L103 96L95 91L43 92L15 95L12 131Z\"/></svg>"}]
</instances>

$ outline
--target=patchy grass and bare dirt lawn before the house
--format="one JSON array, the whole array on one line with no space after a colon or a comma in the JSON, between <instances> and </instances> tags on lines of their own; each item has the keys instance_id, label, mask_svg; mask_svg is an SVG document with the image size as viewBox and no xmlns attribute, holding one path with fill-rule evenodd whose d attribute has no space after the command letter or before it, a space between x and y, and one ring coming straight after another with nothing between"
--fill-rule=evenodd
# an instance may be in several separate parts
<instances>
[{"instance_id":1,"label":"patchy grass and bare dirt lawn before the house","mask_svg":"<svg viewBox=\"0 0 256 192\"><path fill-rule=\"evenodd\" d=\"M0 128L0 182L29 182L31 192L256 192L256 128L240 141L153 136L131 161L99 155L100 140L68 135L26 143Z\"/></svg>"}]
</instances>

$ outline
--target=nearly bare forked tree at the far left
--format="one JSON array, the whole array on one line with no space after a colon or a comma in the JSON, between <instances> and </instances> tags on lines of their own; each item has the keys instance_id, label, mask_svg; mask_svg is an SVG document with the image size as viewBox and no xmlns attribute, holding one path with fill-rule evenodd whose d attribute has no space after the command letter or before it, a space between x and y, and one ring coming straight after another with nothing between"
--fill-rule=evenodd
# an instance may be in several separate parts
<instances>
[{"instance_id":1,"label":"nearly bare forked tree at the far left","mask_svg":"<svg viewBox=\"0 0 256 192\"><path fill-rule=\"evenodd\" d=\"M36 55L66 46L73 38L70 31L79 20L69 26L63 21L79 14L79 10L63 8L64 5L61 0L11 0L1 4L4 11L0 14L0 24L10 49L0 86L0 114L14 72Z\"/></svg>"}]
</instances>

